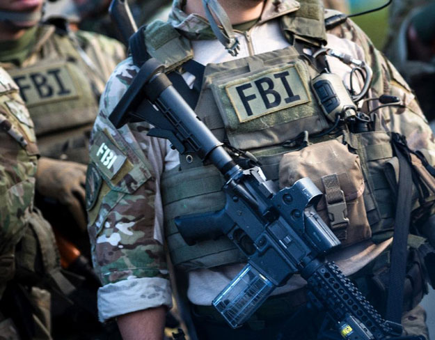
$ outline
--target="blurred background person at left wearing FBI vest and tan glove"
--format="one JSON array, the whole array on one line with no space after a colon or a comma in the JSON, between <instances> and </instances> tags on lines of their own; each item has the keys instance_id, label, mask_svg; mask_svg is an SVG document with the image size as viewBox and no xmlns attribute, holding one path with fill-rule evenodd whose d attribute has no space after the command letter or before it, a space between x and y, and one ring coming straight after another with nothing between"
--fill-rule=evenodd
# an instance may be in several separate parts
<instances>
[{"instance_id":1,"label":"blurred background person at left wearing FBI vest and tan glove","mask_svg":"<svg viewBox=\"0 0 435 340\"><path fill-rule=\"evenodd\" d=\"M31 274L10 281L6 290L10 293L3 295L1 305L13 306L7 309L11 317L23 316L29 323L25 326L33 329L30 309L20 307L31 303L26 302L31 301L26 299L29 287L54 281L56 288L49 285L54 337L92 339L94 331L102 332L102 326L96 317L99 282L85 260L89 256L84 203L88 139L106 79L125 51L116 40L83 31L72 33L65 20L57 20L56 26L40 24L44 2L0 2L0 65L19 86L34 123L41 155L35 173L35 206L53 226L53 230L38 232L35 228L26 235L26 256L18 258L17 264L24 266L19 272ZM69 270L61 276L60 268L52 275L47 267L47 261L57 263L56 256L46 258L47 249L55 249L50 242L54 234L63 268ZM38 260L39 254L46 257ZM20 296L22 302L11 304Z\"/></svg>"}]
</instances>

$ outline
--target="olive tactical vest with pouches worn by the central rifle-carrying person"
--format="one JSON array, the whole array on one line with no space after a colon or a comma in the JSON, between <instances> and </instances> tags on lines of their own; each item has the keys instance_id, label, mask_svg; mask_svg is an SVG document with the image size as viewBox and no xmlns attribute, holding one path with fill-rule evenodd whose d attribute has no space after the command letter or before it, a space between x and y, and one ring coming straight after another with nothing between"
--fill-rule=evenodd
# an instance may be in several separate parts
<instances>
[{"instance_id":1,"label":"olive tactical vest with pouches worn by the central rifle-carrying person","mask_svg":"<svg viewBox=\"0 0 435 340\"><path fill-rule=\"evenodd\" d=\"M324 12L320 8L313 10L316 6L317 1L303 1L300 10L280 19L290 42L297 38L314 47L324 44ZM145 45L148 53L166 66L167 72L193 58L189 40L162 22L146 28ZM316 134L329 127L310 88L310 79L318 75L317 65L301 56L298 52L301 49L296 47L293 44L273 52L207 65L196 114L218 139L253 154L268 179L292 185L295 180L310 176L325 194L317 207L319 215L329 223L342 246L367 238L374 242L387 240L393 234L395 202L390 199L394 191L386 178L386 169L391 170L394 178L398 171L388 132L378 126L374 132L344 132L336 139L329 136L310 139L314 145L303 150L283 146L303 131ZM294 162L306 155L313 160L311 164L300 166L301 162ZM324 162L325 157L334 155L339 155L335 162ZM341 162L342 157L345 162ZM287 165L283 165L284 158L290 159ZM317 161L325 166L316 165ZM324 171L317 171L319 168ZM161 193L165 235L177 268L195 270L246 261L224 236L187 245L174 223L177 216L221 210L225 206L223 184L219 171L203 164L195 155L180 155L180 167L164 171ZM417 201L416 192L413 199Z\"/></svg>"}]
</instances>

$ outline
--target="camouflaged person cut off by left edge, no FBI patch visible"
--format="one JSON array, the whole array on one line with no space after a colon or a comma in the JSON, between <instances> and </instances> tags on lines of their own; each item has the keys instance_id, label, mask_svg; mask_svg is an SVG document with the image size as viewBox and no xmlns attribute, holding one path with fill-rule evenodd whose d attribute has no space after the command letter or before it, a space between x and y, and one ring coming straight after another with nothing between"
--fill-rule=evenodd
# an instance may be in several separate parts
<instances>
[{"instance_id":1,"label":"camouflaged person cut off by left edge, no FBI patch visible","mask_svg":"<svg viewBox=\"0 0 435 340\"><path fill-rule=\"evenodd\" d=\"M33 258L29 255L38 249L29 242L32 233L37 230L50 234L51 227L33 206L39 155L33 122L19 97L17 84L3 68L0 68L0 138L0 337L50 339L49 291L42 286L31 284L24 288L16 283L26 269L31 271L26 258ZM59 268L54 240L47 240L46 245L45 268L54 273ZM13 305L23 300L33 308L17 316Z\"/></svg>"}]
</instances>

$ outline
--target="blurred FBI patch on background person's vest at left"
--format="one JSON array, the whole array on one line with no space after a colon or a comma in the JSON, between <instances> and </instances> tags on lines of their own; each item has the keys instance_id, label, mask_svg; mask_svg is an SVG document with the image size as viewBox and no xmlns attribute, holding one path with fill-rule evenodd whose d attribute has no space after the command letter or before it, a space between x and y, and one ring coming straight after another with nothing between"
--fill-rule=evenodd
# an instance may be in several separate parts
<instances>
[{"instance_id":1,"label":"blurred FBI patch on background person's vest at left","mask_svg":"<svg viewBox=\"0 0 435 340\"><path fill-rule=\"evenodd\" d=\"M77 85L66 62L11 70L27 107L78 97Z\"/></svg>"}]
</instances>

